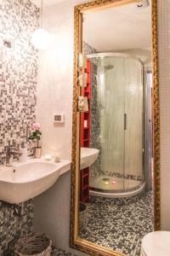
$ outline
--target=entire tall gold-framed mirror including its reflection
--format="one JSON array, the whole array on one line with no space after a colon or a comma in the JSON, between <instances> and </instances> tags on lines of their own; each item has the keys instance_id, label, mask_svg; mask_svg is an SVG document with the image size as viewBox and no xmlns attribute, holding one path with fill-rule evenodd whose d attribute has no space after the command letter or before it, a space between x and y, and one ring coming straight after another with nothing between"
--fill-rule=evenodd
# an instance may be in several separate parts
<instances>
[{"instance_id":1,"label":"entire tall gold-framed mirror including its reflection","mask_svg":"<svg viewBox=\"0 0 170 256\"><path fill-rule=\"evenodd\" d=\"M71 247L139 256L160 229L156 0L75 7Z\"/></svg>"}]
</instances>

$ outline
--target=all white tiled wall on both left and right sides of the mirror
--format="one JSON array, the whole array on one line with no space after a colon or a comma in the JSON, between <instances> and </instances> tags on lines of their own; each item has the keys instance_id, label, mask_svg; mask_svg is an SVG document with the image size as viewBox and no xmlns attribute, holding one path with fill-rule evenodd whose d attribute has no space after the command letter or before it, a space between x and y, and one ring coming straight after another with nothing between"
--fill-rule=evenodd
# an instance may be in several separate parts
<instances>
[{"instance_id":1,"label":"all white tiled wall on both left and right sides of the mirror","mask_svg":"<svg viewBox=\"0 0 170 256\"><path fill-rule=\"evenodd\" d=\"M73 7L69 0L46 9L45 23L54 44L40 59L37 119L42 125L45 152L71 158L71 102L73 69ZM170 230L170 1L158 0L161 96L161 228ZM65 125L53 124L53 113L65 112ZM48 145L45 147L44 145ZM58 247L69 248L70 188L68 172L54 187L34 200L34 229L48 231ZM50 198L50 201L48 201ZM40 215L40 210L43 214ZM82 255L82 253L80 253Z\"/></svg>"}]
</instances>

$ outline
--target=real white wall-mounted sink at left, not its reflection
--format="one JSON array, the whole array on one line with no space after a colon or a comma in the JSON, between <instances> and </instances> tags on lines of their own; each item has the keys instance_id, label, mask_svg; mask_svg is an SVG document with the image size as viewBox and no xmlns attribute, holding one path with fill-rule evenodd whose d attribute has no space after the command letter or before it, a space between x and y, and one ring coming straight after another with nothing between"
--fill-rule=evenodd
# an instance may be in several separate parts
<instances>
[{"instance_id":1,"label":"real white wall-mounted sink at left, not its reflection","mask_svg":"<svg viewBox=\"0 0 170 256\"><path fill-rule=\"evenodd\" d=\"M0 200L12 204L27 201L50 188L60 175L71 170L71 162L27 160L0 169Z\"/></svg>"}]
</instances>

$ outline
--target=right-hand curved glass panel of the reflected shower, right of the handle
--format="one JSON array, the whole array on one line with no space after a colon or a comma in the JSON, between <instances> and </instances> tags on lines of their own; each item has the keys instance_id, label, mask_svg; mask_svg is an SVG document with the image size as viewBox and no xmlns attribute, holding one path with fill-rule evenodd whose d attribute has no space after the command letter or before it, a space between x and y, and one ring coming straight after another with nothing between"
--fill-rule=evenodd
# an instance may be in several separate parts
<instances>
[{"instance_id":1,"label":"right-hand curved glass panel of the reflected shower, right of the handle","mask_svg":"<svg viewBox=\"0 0 170 256\"><path fill-rule=\"evenodd\" d=\"M143 180L143 68L140 61L125 60L126 88L125 113L125 180L126 189L131 183L139 185ZM135 182L138 180L138 182Z\"/></svg>"}]
</instances>

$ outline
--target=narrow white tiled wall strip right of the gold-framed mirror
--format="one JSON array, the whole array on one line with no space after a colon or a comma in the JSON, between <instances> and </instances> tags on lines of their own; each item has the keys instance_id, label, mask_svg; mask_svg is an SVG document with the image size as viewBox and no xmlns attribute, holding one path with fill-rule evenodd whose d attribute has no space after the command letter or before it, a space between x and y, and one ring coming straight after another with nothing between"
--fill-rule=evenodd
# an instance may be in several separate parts
<instances>
[{"instance_id":1,"label":"narrow white tiled wall strip right of the gold-framed mirror","mask_svg":"<svg viewBox=\"0 0 170 256\"><path fill-rule=\"evenodd\" d=\"M170 230L170 1L158 0L161 103L161 229Z\"/></svg>"}]
</instances>

